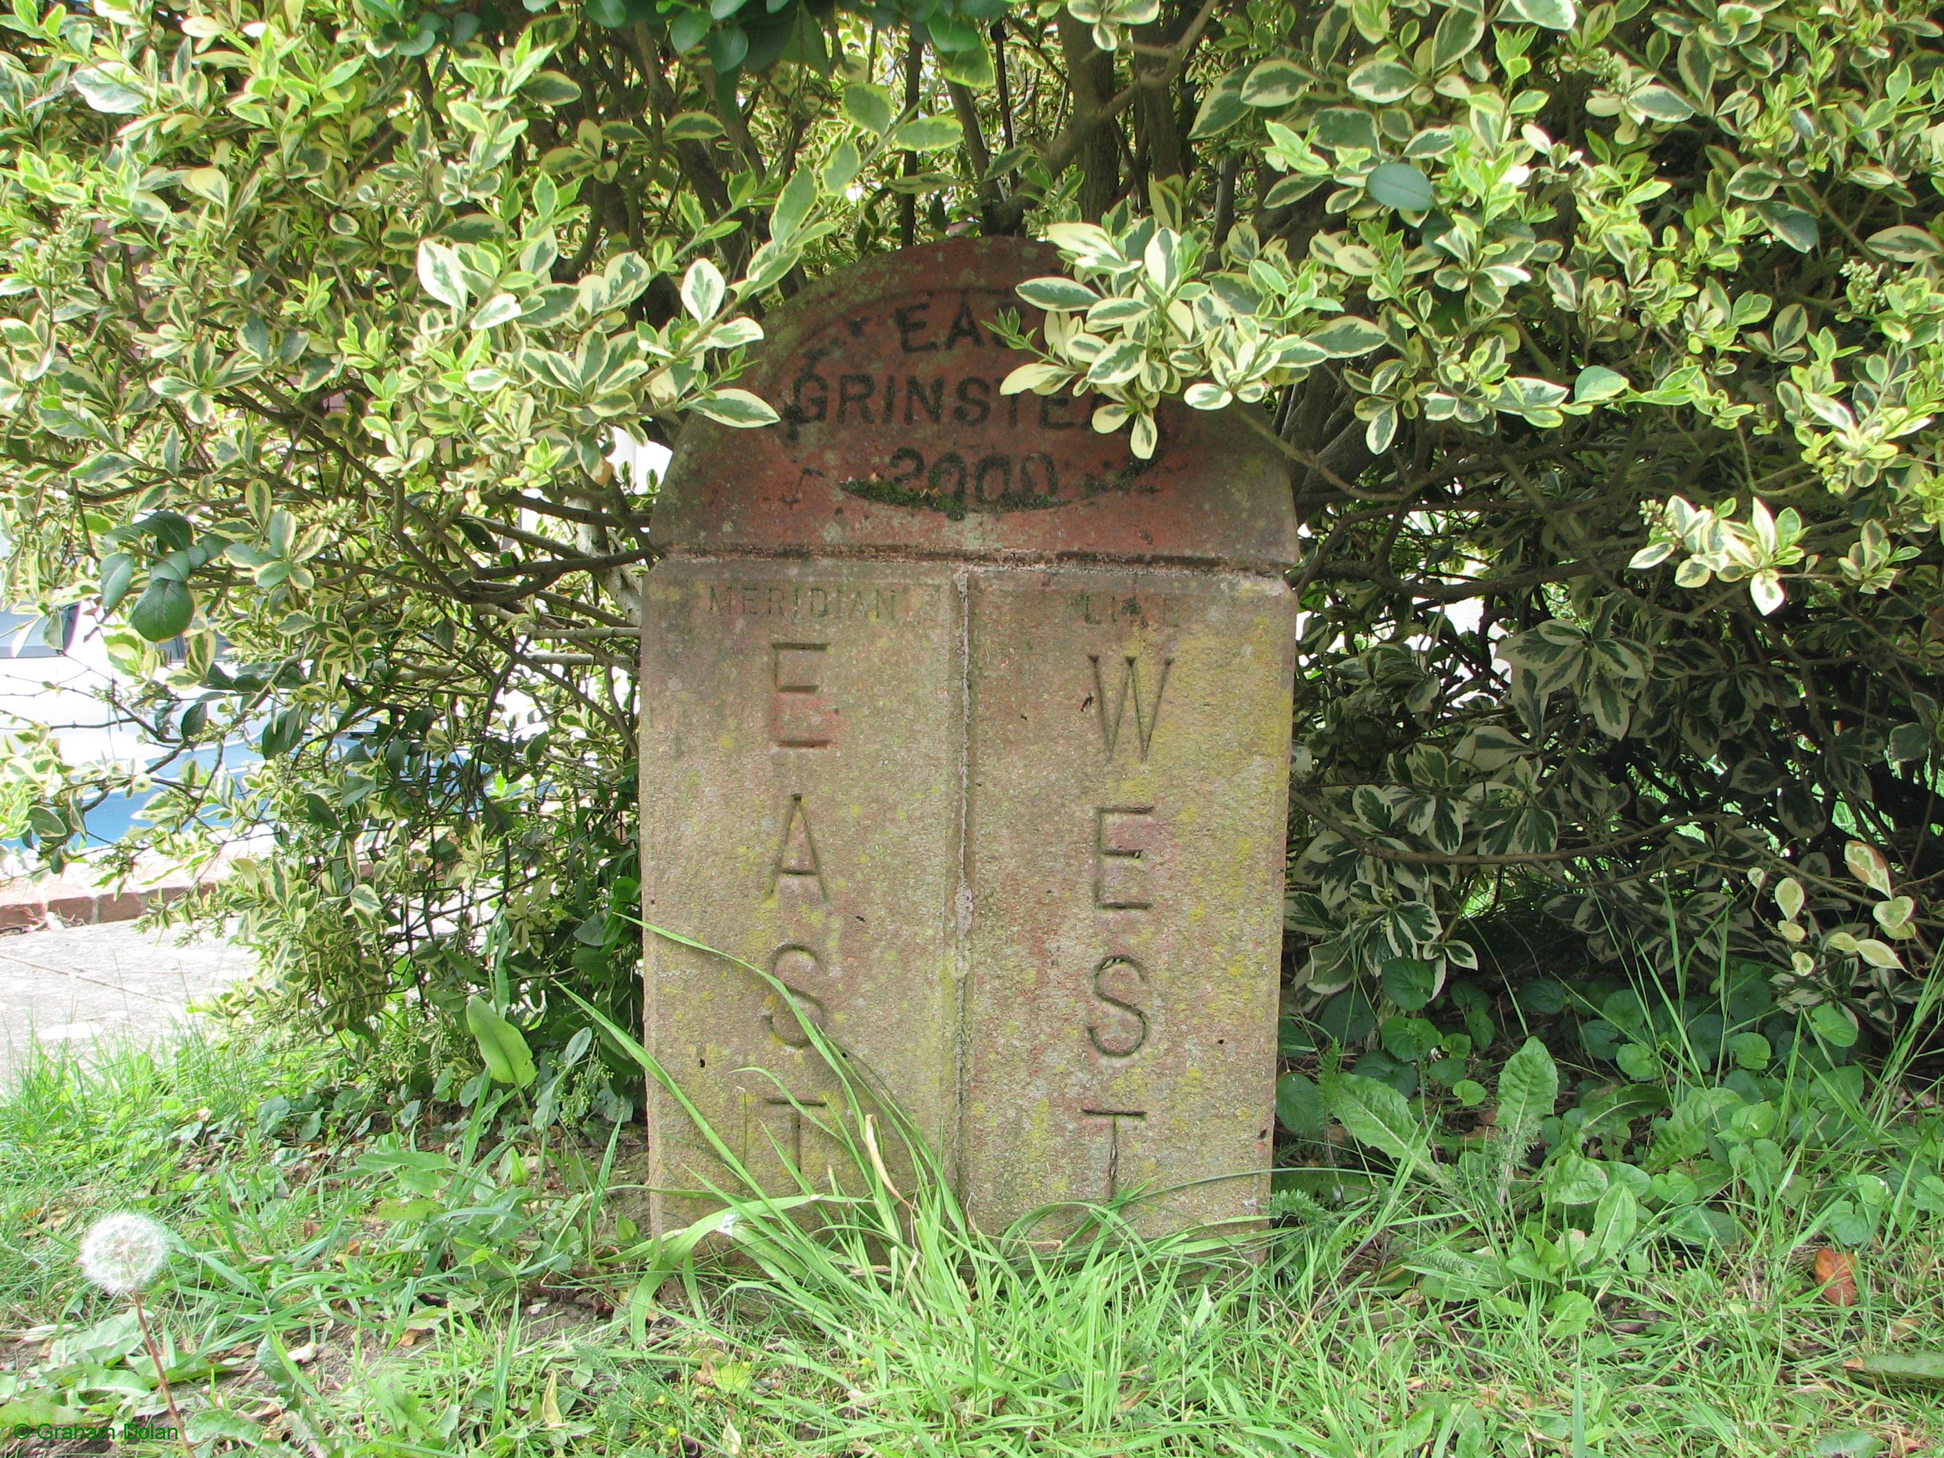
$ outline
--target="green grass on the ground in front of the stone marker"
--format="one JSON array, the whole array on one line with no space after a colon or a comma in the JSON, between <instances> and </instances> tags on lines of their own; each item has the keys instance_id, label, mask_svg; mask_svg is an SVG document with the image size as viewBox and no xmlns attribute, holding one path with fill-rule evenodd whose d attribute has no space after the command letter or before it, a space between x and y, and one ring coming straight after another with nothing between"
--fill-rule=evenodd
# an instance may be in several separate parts
<instances>
[{"instance_id":1,"label":"green grass on the ground in front of the stone marker","mask_svg":"<svg viewBox=\"0 0 1944 1458\"><path fill-rule=\"evenodd\" d=\"M1845 1367L1938 1345L1932 1217L1857 1252L1851 1306L1810 1267L1808 1207L1750 1201L1732 1250L1643 1231L1577 1322L1544 1281L1433 1299L1411 1266L1456 1229L1444 1186L1297 1199L1248 1254L1034 1254L861 1161L815 1229L743 1201L739 1258L684 1262L628 1219L638 1129L542 1159L498 1100L399 1128L367 1077L220 1030L25 1067L0 1096L0 1448L16 1421L159 1411L119 1306L74 1267L119 1207L181 1240L152 1310L204 1452L1767 1458L1944 1439L1944 1388Z\"/></svg>"}]
</instances>

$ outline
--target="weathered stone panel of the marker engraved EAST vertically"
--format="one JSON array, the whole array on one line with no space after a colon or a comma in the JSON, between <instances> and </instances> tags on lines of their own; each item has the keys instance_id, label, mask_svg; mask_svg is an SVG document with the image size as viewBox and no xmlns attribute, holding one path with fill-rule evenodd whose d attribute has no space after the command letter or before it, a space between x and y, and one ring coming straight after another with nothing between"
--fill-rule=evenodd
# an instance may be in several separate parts
<instances>
[{"instance_id":1,"label":"weathered stone panel of the marker engraved EAST vertically","mask_svg":"<svg viewBox=\"0 0 1944 1458\"><path fill-rule=\"evenodd\" d=\"M645 921L809 997L941 1147L956 1100L951 572L673 560L647 587ZM774 1184L785 1157L818 1182L848 1164L818 1129L842 1110L836 1079L776 991L653 933L645 953L649 1048L764 1188L789 1188ZM649 1122L653 1184L723 1184L682 1110L651 1096Z\"/></svg>"}]
</instances>

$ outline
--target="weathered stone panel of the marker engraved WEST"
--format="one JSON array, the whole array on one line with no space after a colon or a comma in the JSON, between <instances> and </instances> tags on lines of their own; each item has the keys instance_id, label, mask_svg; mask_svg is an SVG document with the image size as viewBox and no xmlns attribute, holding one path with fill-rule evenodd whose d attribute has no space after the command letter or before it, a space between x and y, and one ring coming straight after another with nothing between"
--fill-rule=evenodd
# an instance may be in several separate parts
<instances>
[{"instance_id":1,"label":"weathered stone panel of the marker engraved WEST","mask_svg":"<svg viewBox=\"0 0 1944 1458\"><path fill-rule=\"evenodd\" d=\"M964 1196L1170 1194L1234 1217L1269 1166L1289 589L1240 573L972 579Z\"/></svg>"}]
</instances>

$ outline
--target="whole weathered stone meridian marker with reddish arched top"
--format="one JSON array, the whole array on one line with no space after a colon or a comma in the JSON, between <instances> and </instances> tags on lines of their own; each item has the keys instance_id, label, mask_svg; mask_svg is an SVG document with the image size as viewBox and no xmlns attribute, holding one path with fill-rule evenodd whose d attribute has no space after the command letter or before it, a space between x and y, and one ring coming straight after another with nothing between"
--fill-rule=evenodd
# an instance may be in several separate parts
<instances>
[{"instance_id":1,"label":"whole weathered stone meridian marker with reddish arched top","mask_svg":"<svg viewBox=\"0 0 1944 1458\"><path fill-rule=\"evenodd\" d=\"M1267 1192L1297 550L1287 472L1174 406L999 393L991 332L1058 272L1017 239L801 294L692 422L655 507L642 902L770 968L875 1071L986 1229L1155 1190L1145 1229ZM733 962L649 933L647 1046L772 1194L855 1170L834 1077ZM657 1227L727 1172L649 1094ZM1223 1178L1232 1176L1232 1178ZM1067 1217L1065 1223L1071 1223ZM1058 1227L1059 1221L1056 1219Z\"/></svg>"}]
</instances>

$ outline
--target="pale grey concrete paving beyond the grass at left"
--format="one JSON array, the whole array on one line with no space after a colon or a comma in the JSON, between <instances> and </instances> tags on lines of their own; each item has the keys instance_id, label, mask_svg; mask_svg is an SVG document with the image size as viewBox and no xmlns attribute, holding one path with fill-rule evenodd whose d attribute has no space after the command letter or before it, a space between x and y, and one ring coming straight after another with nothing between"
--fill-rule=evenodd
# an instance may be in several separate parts
<instances>
[{"instance_id":1,"label":"pale grey concrete paving beyond the grass at left","mask_svg":"<svg viewBox=\"0 0 1944 1458\"><path fill-rule=\"evenodd\" d=\"M105 923L0 937L0 1085L29 1046L101 1038L156 1042L181 1026L189 1003L253 970L243 947L181 931Z\"/></svg>"}]
</instances>

